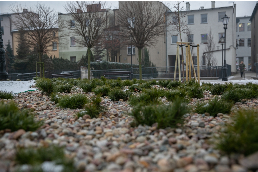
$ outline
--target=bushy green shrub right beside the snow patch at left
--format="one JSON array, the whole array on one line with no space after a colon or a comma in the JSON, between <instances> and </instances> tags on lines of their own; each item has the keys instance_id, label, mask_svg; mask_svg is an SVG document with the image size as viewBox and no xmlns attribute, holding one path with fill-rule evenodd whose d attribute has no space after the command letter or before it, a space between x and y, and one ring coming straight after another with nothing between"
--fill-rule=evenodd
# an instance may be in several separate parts
<instances>
[{"instance_id":1,"label":"bushy green shrub right beside the snow patch at left","mask_svg":"<svg viewBox=\"0 0 258 172\"><path fill-rule=\"evenodd\" d=\"M36 87L40 88L47 95L50 95L55 91L56 84L49 78L41 78L36 80Z\"/></svg>"}]
</instances>

